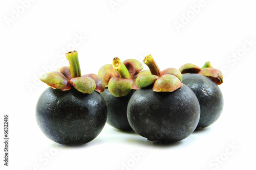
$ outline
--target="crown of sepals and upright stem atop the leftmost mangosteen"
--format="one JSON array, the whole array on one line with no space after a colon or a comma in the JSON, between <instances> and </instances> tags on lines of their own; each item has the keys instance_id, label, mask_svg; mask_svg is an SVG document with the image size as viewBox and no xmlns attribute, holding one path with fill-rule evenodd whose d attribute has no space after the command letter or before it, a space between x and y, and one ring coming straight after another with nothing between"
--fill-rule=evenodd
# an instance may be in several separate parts
<instances>
[{"instance_id":1,"label":"crown of sepals and upright stem atop the leftmost mangosteen","mask_svg":"<svg viewBox=\"0 0 256 170\"><path fill-rule=\"evenodd\" d=\"M105 83L96 74L81 76L78 54L76 51L65 54L69 60L70 67L63 66L56 71L48 72L40 80L54 89L62 91L70 90L71 86L82 93L92 93L94 90L103 92Z\"/></svg>"}]
</instances>

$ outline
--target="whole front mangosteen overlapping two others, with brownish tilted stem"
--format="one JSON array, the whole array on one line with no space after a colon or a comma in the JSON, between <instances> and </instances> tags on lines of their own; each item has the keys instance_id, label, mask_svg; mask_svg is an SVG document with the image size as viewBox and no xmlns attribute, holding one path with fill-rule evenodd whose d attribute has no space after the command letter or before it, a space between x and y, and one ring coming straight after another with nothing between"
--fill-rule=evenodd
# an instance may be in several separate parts
<instances>
[{"instance_id":1,"label":"whole front mangosteen overlapping two others, with brownish tilted stem","mask_svg":"<svg viewBox=\"0 0 256 170\"><path fill-rule=\"evenodd\" d=\"M151 55L144 58L151 74L139 75L140 87L129 101L127 118L133 130L155 142L174 142L188 137L196 129L200 106L195 93L181 83L176 68L160 71Z\"/></svg>"}]
</instances>

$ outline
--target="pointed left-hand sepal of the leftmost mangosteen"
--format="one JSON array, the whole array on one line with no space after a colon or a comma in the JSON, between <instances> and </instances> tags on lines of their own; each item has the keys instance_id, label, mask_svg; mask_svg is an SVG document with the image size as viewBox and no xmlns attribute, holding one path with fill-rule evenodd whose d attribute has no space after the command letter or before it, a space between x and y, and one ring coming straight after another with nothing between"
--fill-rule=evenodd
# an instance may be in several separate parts
<instances>
[{"instance_id":1,"label":"pointed left-hand sepal of the leftmost mangosteen","mask_svg":"<svg viewBox=\"0 0 256 170\"><path fill-rule=\"evenodd\" d=\"M61 89L62 91L71 89L68 79L57 71L51 71L42 75L40 80L54 89Z\"/></svg>"}]
</instances>

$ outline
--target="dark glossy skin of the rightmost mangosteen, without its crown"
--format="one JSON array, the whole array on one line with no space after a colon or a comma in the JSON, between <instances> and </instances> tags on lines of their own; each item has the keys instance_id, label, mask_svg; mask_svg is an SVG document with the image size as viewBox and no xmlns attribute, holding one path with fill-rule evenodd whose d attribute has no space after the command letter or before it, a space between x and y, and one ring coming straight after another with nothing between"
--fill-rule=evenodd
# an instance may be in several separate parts
<instances>
[{"instance_id":1,"label":"dark glossy skin of the rightmost mangosteen, without its crown","mask_svg":"<svg viewBox=\"0 0 256 170\"><path fill-rule=\"evenodd\" d=\"M200 120L197 129L215 123L220 117L224 99L219 86L206 76L199 74L183 74L182 83L196 94L200 104Z\"/></svg>"}]
</instances>

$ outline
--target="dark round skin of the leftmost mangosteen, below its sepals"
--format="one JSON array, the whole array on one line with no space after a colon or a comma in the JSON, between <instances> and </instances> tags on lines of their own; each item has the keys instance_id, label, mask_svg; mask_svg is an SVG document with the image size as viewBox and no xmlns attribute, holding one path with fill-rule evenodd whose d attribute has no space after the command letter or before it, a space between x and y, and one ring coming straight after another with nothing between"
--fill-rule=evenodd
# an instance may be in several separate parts
<instances>
[{"instance_id":1,"label":"dark round skin of the leftmost mangosteen, below its sepals","mask_svg":"<svg viewBox=\"0 0 256 170\"><path fill-rule=\"evenodd\" d=\"M83 94L75 88L67 91L47 88L36 104L36 121L51 140L66 145L92 141L106 123L106 104L94 91Z\"/></svg>"}]
</instances>

